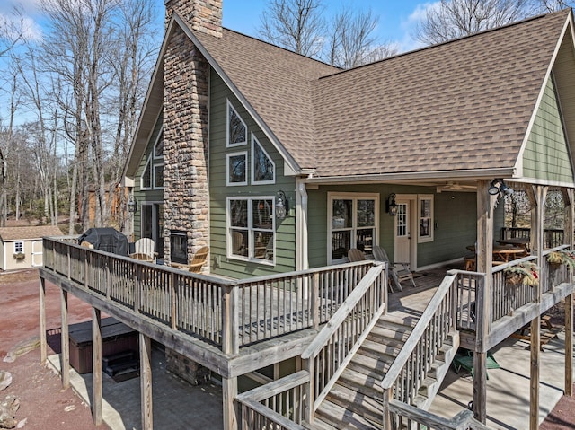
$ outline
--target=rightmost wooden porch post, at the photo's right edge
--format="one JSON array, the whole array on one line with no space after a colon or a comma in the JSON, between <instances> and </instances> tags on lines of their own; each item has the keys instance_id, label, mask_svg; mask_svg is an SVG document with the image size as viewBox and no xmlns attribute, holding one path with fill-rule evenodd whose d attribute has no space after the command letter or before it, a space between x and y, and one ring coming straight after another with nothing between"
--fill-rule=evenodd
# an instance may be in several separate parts
<instances>
[{"instance_id":1,"label":"rightmost wooden porch post, at the photo's right edge","mask_svg":"<svg viewBox=\"0 0 575 430\"><path fill-rule=\"evenodd\" d=\"M573 230L575 230L574 189L562 189L565 202L565 230L563 243L569 243L573 250ZM569 271L569 282L573 283L573 272ZM573 294L565 297L565 395L573 395Z\"/></svg>"}]
</instances>

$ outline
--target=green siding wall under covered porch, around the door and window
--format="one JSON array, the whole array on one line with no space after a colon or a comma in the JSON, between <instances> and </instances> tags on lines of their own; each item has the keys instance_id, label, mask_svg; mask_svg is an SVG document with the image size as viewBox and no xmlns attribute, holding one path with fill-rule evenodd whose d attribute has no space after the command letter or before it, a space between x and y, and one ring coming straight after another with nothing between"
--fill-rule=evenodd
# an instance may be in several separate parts
<instances>
[{"instance_id":1,"label":"green siding wall under covered porch, around the door and window","mask_svg":"<svg viewBox=\"0 0 575 430\"><path fill-rule=\"evenodd\" d=\"M424 267L452 259L463 258L469 251L467 245L476 241L477 236L477 198L475 193L442 192L435 188L361 185L361 186L322 186L308 189L308 254L311 268L327 264L328 232L328 192L376 193L379 194L379 245L383 246L393 259L394 254L394 217L385 213L385 200L391 193L396 194L433 194L434 195L434 240L418 243L418 266ZM502 223L500 204L496 211L494 240L499 238L498 225ZM417 235L412 234L413 240Z\"/></svg>"}]
</instances>

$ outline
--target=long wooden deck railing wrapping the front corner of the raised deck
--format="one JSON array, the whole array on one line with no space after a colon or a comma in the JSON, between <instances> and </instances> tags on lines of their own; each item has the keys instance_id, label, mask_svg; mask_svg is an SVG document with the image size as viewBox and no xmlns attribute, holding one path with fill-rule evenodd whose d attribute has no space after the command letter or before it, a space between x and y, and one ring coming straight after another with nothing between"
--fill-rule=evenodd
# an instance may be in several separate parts
<instances>
[{"instance_id":1,"label":"long wooden deck railing wrapping the front corner of the raised deck","mask_svg":"<svg viewBox=\"0 0 575 430\"><path fill-rule=\"evenodd\" d=\"M44 239L44 268L85 291L236 354L330 320L373 262L226 280Z\"/></svg>"}]
</instances>

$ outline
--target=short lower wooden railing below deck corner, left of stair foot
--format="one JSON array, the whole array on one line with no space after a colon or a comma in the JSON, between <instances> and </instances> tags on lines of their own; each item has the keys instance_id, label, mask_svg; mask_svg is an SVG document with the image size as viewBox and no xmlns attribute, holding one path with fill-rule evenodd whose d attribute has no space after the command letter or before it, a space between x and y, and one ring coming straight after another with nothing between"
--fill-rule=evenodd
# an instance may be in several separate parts
<instances>
[{"instance_id":1,"label":"short lower wooden railing below deck corner, left of stair foot","mask_svg":"<svg viewBox=\"0 0 575 430\"><path fill-rule=\"evenodd\" d=\"M241 428L304 430L309 373L300 371L237 396Z\"/></svg>"}]
</instances>

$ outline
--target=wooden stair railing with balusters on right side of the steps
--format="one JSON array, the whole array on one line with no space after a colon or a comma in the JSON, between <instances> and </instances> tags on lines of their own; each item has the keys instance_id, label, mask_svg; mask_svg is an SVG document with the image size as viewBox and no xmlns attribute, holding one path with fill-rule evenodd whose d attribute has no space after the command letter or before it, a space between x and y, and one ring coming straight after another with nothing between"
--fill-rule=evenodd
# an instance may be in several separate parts
<instances>
[{"instance_id":1,"label":"wooden stair railing with balusters on right side of the steps","mask_svg":"<svg viewBox=\"0 0 575 430\"><path fill-rule=\"evenodd\" d=\"M384 390L385 430L392 428L390 400L413 403L431 365L441 353L441 347L456 330L456 279L454 274L447 274L443 279L381 382Z\"/></svg>"}]
</instances>

